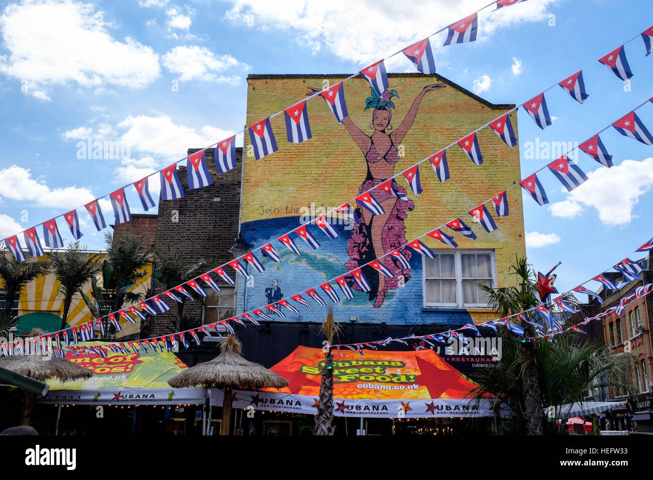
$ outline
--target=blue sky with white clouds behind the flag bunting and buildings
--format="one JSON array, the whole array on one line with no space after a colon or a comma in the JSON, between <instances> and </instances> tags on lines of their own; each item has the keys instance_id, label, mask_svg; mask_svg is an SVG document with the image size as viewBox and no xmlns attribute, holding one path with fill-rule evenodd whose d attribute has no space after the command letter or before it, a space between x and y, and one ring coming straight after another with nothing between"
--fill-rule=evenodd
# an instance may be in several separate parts
<instances>
[{"instance_id":1,"label":"blue sky with white clouds behind the flag bunting and buildings","mask_svg":"<svg viewBox=\"0 0 653 480\"><path fill-rule=\"evenodd\" d=\"M358 71L485 3L3 2L0 238L165 167L189 146L240 131L248 73ZM442 48L445 33L432 38L443 76L489 101L522 103L637 35L626 45L631 84L595 63L584 69L584 104L557 86L547 93L554 123L545 131L520 109L523 174L551 161L524 158L526 142L581 142L653 96L653 56L645 57L639 37L653 24L653 4L579 5L528 0L487 9L477 42ZM412 71L403 56L387 67ZM637 114L653 129L653 104ZM87 138L123 142L129 158L80 159L77 142ZM613 168L581 152L589 182L568 194L543 172L550 208L524 197L528 257L543 271L562 261L559 289L607 270L653 235L651 147L612 128L602 138ZM137 203L131 199L133 212L141 211ZM108 200L101 205L110 221ZM100 248L101 232L93 232L85 212L80 219L84 243ZM65 225L59 228L69 237Z\"/></svg>"}]
</instances>

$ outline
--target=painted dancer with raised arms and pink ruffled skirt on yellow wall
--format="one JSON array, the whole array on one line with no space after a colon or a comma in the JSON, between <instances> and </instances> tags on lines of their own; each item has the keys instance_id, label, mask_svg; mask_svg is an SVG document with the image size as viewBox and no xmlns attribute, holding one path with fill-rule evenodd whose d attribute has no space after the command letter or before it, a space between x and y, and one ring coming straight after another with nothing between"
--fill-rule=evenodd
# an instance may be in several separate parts
<instances>
[{"instance_id":1,"label":"painted dancer with raised arms and pink ruffled skirt on yellow wall","mask_svg":"<svg viewBox=\"0 0 653 480\"><path fill-rule=\"evenodd\" d=\"M358 188L358 193L375 187L394 175L394 165L399 161L398 146L413 126L417 109L424 95L429 91L438 91L445 87L446 85L441 83L424 87L415 97L404 120L396 129L392 125L391 110L394 108L392 97L399 97L396 90L386 90L379 95L374 89L371 89L372 97L366 99L364 110L374 108L372 123L370 123L372 135L364 133L349 116L343 119L347 132L362 151L368 167L367 176ZM396 185L396 188L400 193L406 194L406 189L401 185ZM360 207L357 208L360 225L355 226L351 238L348 240L349 261L345 263L345 266L349 270L358 268L360 264L368 263L377 256L389 253L406 244L404 220L407 217L406 212L413 210L415 204L412 200L396 199L385 191L375 190L373 194L374 198L383 206L385 214L372 216L370 212L363 211L364 209ZM411 258L411 252L408 249L403 253L407 260ZM371 267L364 267L364 274L372 287L370 301L374 300L375 308L379 308L383 304L389 290L398 288L410 279L408 269L402 268L394 259L385 257L382 261L392 272L392 278L385 278L381 272L377 272ZM360 290L358 285L352 285L352 288Z\"/></svg>"}]
</instances>

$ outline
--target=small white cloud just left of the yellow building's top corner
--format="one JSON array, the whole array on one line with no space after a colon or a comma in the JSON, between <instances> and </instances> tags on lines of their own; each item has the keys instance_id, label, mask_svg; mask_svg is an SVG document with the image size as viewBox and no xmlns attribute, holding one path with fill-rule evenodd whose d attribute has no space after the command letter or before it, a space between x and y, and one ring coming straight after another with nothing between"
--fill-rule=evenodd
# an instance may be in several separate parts
<instances>
[{"instance_id":1,"label":"small white cloud just left of the yellow building's top corner","mask_svg":"<svg viewBox=\"0 0 653 480\"><path fill-rule=\"evenodd\" d=\"M249 65L240 63L231 55L216 55L204 46L176 46L163 56L163 65L172 73L180 74L182 81L210 80L219 83L237 84L237 75L225 76L222 72L238 67L247 70Z\"/></svg>"}]
</instances>

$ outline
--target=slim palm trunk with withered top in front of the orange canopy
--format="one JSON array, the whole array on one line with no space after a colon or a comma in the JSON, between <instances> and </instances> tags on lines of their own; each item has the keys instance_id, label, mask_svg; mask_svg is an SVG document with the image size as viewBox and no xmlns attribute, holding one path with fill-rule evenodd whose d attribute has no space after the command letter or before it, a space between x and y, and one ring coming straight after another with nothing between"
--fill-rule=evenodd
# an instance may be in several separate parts
<instances>
[{"instance_id":1,"label":"slim palm trunk with withered top in front of the orange canopy","mask_svg":"<svg viewBox=\"0 0 653 480\"><path fill-rule=\"evenodd\" d=\"M327 307L327 317L322 320L320 331L325 334L328 344L323 348L325 366L322 370L320 398L315 416L315 435L333 435L336 427L333 424L333 352L331 344L334 336L338 336L340 333L340 325L334 319L332 304Z\"/></svg>"}]
</instances>

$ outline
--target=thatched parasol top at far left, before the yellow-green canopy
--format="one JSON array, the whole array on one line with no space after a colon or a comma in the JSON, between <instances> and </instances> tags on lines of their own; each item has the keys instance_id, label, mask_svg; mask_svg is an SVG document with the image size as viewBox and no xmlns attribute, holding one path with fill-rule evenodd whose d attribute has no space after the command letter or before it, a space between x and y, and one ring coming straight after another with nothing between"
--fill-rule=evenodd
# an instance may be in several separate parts
<instances>
[{"instance_id":1,"label":"thatched parasol top at far left, before the yellow-green canopy","mask_svg":"<svg viewBox=\"0 0 653 480\"><path fill-rule=\"evenodd\" d=\"M0 366L39 381L57 378L71 381L93 376L93 371L67 359L44 355L14 355L0 358Z\"/></svg>"}]
</instances>

